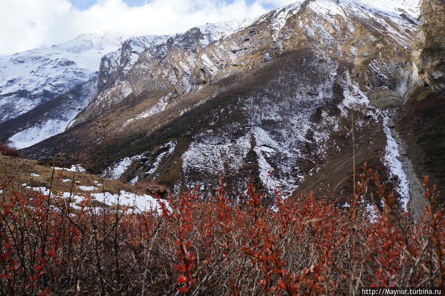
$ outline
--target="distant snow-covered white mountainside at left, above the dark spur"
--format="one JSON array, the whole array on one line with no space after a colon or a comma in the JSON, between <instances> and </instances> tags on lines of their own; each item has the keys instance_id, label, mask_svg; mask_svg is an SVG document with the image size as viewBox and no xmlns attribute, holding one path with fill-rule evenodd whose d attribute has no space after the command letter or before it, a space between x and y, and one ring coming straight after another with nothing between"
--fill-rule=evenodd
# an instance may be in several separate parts
<instances>
[{"instance_id":1,"label":"distant snow-covered white mountainside at left, above the dark spur","mask_svg":"<svg viewBox=\"0 0 445 296\"><path fill-rule=\"evenodd\" d=\"M0 122L89 80L99 70L102 55L122 41L120 36L85 34L0 58Z\"/></svg>"}]
</instances>

